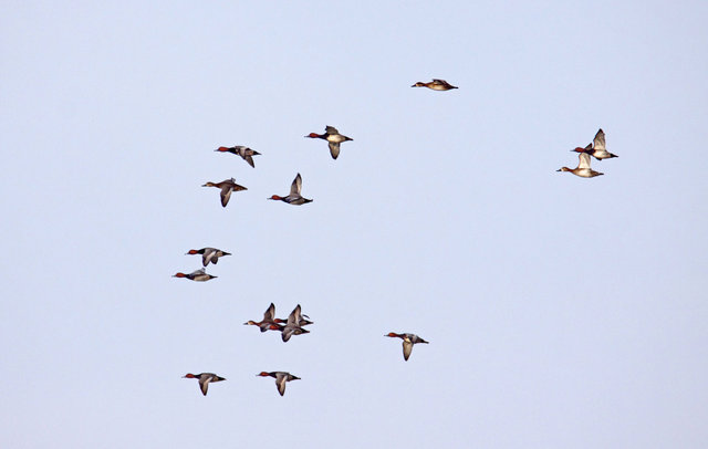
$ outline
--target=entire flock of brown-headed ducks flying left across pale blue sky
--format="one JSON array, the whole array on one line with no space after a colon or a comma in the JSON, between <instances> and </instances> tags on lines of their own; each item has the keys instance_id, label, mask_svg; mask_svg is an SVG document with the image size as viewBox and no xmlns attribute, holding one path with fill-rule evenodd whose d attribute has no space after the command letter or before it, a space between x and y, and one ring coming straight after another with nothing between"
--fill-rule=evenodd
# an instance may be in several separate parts
<instances>
[{"instance_id":1,"label":"entire flock of brown-headed ducks flying left across pale blue sky","mask_svg":"<svg viewBox=\"0 0 708 449\"><path fill-rule=\"evenodd\" d=\"M449 91L452 88L458 88L457 86L449 84L445 80L435 80L435 79L428 83L417 82L414 85L412 85L412 87L428 87L434 91ZM324 129L324 134L310 133L305 137L321 138L323 140L326 140L330 147L330 154L332 155L333 159L336 159L340 156L340 145L342 143L347 140L353 140L351 137L340 134L340 132L333 126L326 126ZM232 153L237 156L240 156L253 168L256 168L256 164L253 163L253 156L260 155L260 153L241 145L237 145L233 147L219 147L216 149L216 152ZM593 156L597 160L617 157L612 153L607 152L607 149L605 148L605 133L602 129L597 132L592 144L587 145L584 148L577 147L575 149L572 149L571 152L580 153L579 155L580 163L577 165L577 168L571 169L568 167L562 167L558 171L571 171L573 175L580 176L583 178L592 178L595 176L603 175L590 168L590 160L591 160L590 156ZM221 182L209 181L205 184L202 187L216 187L220 189L221 206L223 207L226 207L229 203L229 199L231 198L232 192L248 190L246 187L236 184L236 179L233 178L226 179ZM290 194L288 196L281 197L278 195L273 195L268 199L280 200L294 206L301 206L308 202L312 202L312 199L304 198L301 195L301 192L302 192L302 176L298 174L295 176L295 179L293 179L290 186ZM174 278L186 278L197 282L205 282L205 281L209 281L211 279L217 278L215 275L208 274L206 272L206 267L209 263L217 264L219 261L219 258L231 255L229 252L222 251L217 248L201 248L199 250L189 250L187 254L201 254L202 268L188 274L185 274L181 272L176 273ZM270 306L263 313L263 320L259 322L249 320L243 324L258 326L261 332L278 331L281 333L282 341L288 342L293 335L302 335L302 334L310 333L310 331L303 328L303 326L313 324L313 322L310 321L310 317L308 315L302 314L302 307L300 306L300 304L298 304L295 309L293 309L293 311L288 316L288 320L277 319L275 304L271 303ZM410 352L413 351L413 346L415 344L428 343L421 337L419 337L418 335L410 334L410 333L397 334L395 332L389 332L384 336L403 340L403 358L405 361L407 361L408 357L410 357ZM273 377L275 379L275 386L278 387L278 393L280 393L281 396L285 394L285 383L300 379L300 377L296 377L288 372L261 372L256 376ZM209 388L210 383L226 380L225 377L217 376L214 373L200 373L200 374L187 373L184 377L198 379L199 388L205 396L207 395L207 390Z\"/></svg>"}]
</instances>

